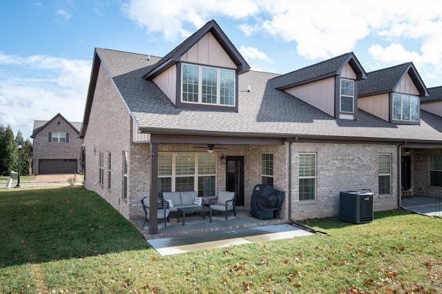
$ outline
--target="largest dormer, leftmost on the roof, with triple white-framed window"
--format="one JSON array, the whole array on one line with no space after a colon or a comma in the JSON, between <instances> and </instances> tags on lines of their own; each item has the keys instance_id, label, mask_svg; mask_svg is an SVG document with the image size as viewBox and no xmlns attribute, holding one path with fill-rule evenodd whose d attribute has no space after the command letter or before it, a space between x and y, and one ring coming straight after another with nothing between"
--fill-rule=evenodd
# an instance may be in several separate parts
<instances>
[{"instance_id":1,"label":"largest dormer, leftmost on the roof, with triple white-framed window","mask_svg":"<svg viewBox=\"0 0 442 294\"><path fill-rule=\"evenodd\" d=\"M238 75L250 66L214 20L144 75L177 108L238 111Z\"/></svg>"}]
</instances>

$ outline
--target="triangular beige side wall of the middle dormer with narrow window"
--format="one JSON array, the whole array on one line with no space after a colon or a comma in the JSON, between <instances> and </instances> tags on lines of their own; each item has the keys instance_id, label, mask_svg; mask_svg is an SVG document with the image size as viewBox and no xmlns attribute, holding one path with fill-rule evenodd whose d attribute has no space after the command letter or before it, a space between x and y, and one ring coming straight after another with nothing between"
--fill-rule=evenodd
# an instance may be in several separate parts
<instances>
[{"instance_id":1,"label":"triangular beige side wall of the middle dormer with narrow window","mask_svg":"<svg viewBox=\"0 0 442 294\"><path fill-rule=\"evenodd\" d=\"M334 77L289 88L285 92L334 117Z\"/></svg>"}]
</instances>

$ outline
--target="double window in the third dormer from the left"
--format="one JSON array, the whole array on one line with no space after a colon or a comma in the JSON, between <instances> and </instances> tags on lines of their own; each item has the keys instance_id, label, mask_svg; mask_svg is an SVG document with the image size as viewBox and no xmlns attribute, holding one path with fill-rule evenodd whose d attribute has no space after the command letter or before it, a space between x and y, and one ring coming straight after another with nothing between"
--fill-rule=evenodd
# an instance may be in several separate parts
<instances>
[{"instance_id":1,"label":"double window in the third dormer from the left","mask_svg":"<svg viewBox=\"0 0 442 294\"><path fill-rule=\"evenodd\" d=\"M393 93L393 119L419 121L419 97Z\"/></svg>"}]
</instances>

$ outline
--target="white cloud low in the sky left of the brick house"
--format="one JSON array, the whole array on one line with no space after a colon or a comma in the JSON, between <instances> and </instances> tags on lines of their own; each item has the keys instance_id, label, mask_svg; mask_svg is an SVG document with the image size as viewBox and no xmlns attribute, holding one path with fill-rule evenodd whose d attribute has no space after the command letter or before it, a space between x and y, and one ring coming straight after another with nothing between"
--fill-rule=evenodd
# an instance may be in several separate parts
<instances>
[{"instance_id":1,"label":"white cloud low in the sky left of the brick house","mask_svg":"<svg viewBox=\"0 0 442 294\"><path fill-rule=\"evenodd\" d=\"M69 121L83 119L90 61L0 53L0 66L8 70L0 72L0 124L28 137L35 119L52 119L58 112Z\"/></svg>"}]
</instances>

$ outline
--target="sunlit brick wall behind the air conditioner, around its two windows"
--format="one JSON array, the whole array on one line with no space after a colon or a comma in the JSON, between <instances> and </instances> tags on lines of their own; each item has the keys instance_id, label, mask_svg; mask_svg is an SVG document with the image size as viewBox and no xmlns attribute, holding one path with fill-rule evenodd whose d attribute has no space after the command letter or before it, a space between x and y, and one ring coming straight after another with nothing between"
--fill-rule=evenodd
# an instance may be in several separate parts
<instances>
[{"instance_id":1,"label":"sunlit brick wall behind the air conditioner, around its two windows","mask_svg":"<svg viewBox=\"0 0 442 294\"><path fill-rule=\"evenodd\" d=\"M302 144L292 146L292 219L335 217L339 192L369 188L374 210L397 208L397 147L365 144ZM299 153L316 153L316 199L299 201ZM392 155L391 195L378 194L378 154Z\"/></svg>"}]
</instances>

